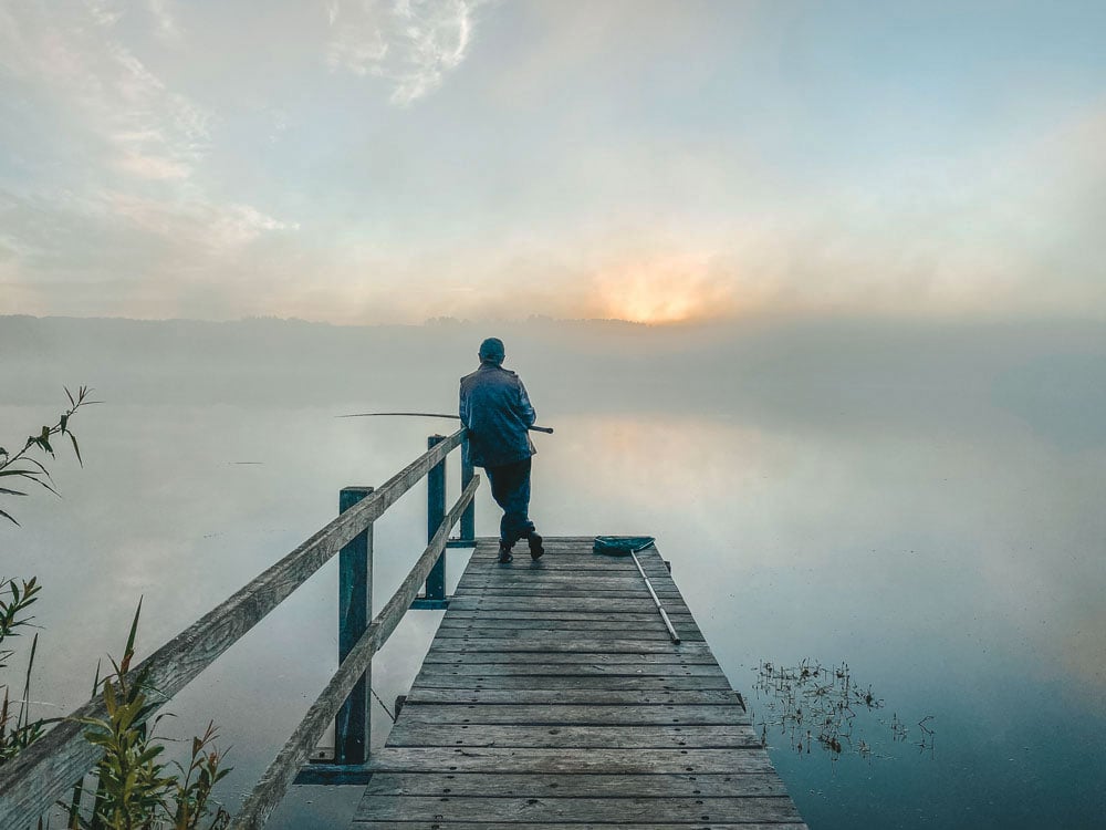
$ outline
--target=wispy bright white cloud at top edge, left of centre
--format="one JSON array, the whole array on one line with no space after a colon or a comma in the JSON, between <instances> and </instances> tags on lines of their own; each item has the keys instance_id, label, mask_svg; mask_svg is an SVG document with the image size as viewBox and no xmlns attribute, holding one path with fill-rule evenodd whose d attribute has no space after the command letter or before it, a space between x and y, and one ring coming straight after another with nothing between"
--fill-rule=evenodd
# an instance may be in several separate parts
<instances>
[{"instance_id":1,"label":"wispy bright white cloud at top edge, left of centre","mask_svg":"<svg viewBox=\"0 0 1106 830\"><path fill-rule=\"evenodd\" d=\"M461 65L484 0L336 0L327 7L332 71L393 84L390 101L407 105L438 89Z\"/></svg>"}]
</instances>

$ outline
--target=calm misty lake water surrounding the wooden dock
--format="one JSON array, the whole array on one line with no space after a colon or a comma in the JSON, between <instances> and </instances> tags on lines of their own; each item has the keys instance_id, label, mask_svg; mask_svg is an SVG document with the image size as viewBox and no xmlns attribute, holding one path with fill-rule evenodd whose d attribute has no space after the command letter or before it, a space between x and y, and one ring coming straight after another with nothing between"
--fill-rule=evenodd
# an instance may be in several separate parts
<instances>
[{"instance_id":1,"label":"calm misty lake water surrounding the wooden dock","mask_svg":"<svg viewBox=\"0 0 1106 830\"><path fill-rule=\"evenodd\" d=\"M568 346L551 352L555 334L511 333L513 365L556 428L535 436L540 529L657 537L812 828L1102 826L1100 332L985 365L968 359L980 353L968 340L950 352L931 338L942 355L932 365L902 359L915 349L896 341L900 356L885 352L899 367L890 375L868 349L858 366L856 352L826 335L825 349L789 364L808 371L768 380L749 361L730 373L711 343L693 353L669 343L619 374L609 350L593 364ZM479 342L470 330L455 336ZM35 573L45 585L35 710L64 713L86 697L97 658L121 653L139 596L148 653L327 521L343 486L380 484L421 453L436 422L334 416L405 396L449 411L468 351L421 374L409 355L390 357L403 371L384 387L349 381L336 362L310 397L271 385L252 394L255 363L244 359L237 367L197 357L186 377L187 347L159 378L156 357L137 349L133 360L67 341L45 355L9 352L6 442L50 422L63 383L91 383L107 402L74 422L85 467L59 457L63 499L20 500L23 527L0 527L3 573ZM212 373L217 385L196 380ZM458 464L455 454L452 494ZM424 494L377 525L377 606L425 544ZM480 535L497 527L489 502L482 489ZM456 580L465 553L449 557ZM166 736L188 738L209 718L220 726L232 746L221 791L231 809L333 671L335 564L168 706ZM374 664L389 705L439 618L409 613ZM773 686L759 684L764 662L804 660L847 664L851 683L870 688L875 707L856 708L839 754L810 746L805 725L781 726L779 695L758 688ZM380 744L388 720L374 714ZM270 826L341 827L357 798L299 788Z\"/></svg>"}]
</instances>

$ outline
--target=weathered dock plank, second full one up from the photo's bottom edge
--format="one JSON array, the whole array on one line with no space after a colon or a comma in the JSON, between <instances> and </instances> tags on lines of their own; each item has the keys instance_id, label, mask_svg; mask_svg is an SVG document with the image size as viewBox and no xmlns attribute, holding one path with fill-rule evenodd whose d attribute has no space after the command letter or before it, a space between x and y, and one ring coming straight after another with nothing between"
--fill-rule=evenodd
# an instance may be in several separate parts
<instances>
[{"instance_id":1,"label":"weathered dock plank, second full one up from the photo's bottom edge","mask_svg":"<svg viewBox=\"0 0 1106 830\"><path fill-rule=\"evenodd\" d=\"M366 796L487 796L488 781L477 772L376 772ZM495 776L505 797L542 798L737 798L785 796L776 775L518 775Z\"/></svg>"}]
</instances>

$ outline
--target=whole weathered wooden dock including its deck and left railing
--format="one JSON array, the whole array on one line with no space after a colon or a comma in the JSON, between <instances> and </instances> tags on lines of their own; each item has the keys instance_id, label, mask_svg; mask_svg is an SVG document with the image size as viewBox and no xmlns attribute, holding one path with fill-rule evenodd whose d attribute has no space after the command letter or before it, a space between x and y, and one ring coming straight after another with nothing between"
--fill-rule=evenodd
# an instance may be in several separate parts
<instances>
[{"instance_id":1,"label":"whole weathered wooden dock including its deck and left railing","mask_svg":"<svg viewBox=\"0 0 1106 830\"><path fill-rule=\"evenodd\" d=\"M465 440L463 428L431 435L380 486L343 488L336 518L131 667L171 699L338 558L338 666L231 828L261 830L296 784L366 782L361 830L804 828L657 550L638 554L638 571L593 553L591 537L547 539L539 562L522 546L500 566L495 540L476 538L480 477L463 456L446 507L446 459ZM424 478L426 548L374 615L374 525ZM447 596L446 549L472 546ZM387 745L371 754L373 656L410 610L447 606ZM103 754L84 723L107 716L97 693L0 766L0 828L41 826L70 803ZM84 787L72 810L90 815L96 791Z\"/></svg>"}]
</instances>

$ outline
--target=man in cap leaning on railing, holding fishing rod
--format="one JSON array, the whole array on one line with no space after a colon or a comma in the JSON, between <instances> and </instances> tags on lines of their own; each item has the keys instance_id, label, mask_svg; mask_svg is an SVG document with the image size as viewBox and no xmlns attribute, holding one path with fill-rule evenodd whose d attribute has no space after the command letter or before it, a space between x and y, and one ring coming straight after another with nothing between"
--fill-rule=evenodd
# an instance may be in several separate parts
<instances>
[{"instance_id":1,"label":"man in cap leaning on railing, holding fishing rod","mask_svg":"<svg viewBox=\"0 0 1106 830\"><path fill-rule=\"evenodd\" d=\"M503 341L488 338L480 344L480 369L461 378L461 423L468 427L469 460L483 467L491 495L501 508L499 561L514 559L511 549L520 539L535 561L545 549L530 520L530 457L536 453L530 427L538 419L522 380L503 369Z\"/></svg>"}]
</instances>

